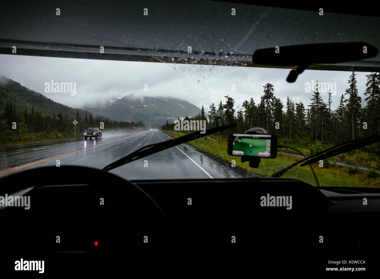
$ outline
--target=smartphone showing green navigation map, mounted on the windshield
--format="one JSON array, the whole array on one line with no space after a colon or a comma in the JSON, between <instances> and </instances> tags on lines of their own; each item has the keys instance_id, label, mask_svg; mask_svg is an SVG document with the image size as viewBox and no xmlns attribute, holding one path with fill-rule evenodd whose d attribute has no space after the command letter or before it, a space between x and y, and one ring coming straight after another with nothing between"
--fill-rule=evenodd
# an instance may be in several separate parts
<instances>
[{"instance_id":1,"label":"smartphone showing green navigation map, mounted on the windshield","mask_svg":"<svg viewBox=\"0 0 380 279\"><path fill-rule=\"evenodd\" d=\"M271 156L271 136L234 134L232 154L239 156Z\"/></svg>"}]
</instances>

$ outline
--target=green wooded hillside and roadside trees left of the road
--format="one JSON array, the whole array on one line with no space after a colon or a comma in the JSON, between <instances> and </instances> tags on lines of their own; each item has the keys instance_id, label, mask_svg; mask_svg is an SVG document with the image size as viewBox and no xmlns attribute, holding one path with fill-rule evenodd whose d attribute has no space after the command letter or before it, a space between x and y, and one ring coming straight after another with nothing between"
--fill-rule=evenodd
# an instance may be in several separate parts
<instances>
[{"instance_id":1,"label":"green wooded hillside and roadside trees left of the road","mask_svg":"<svg viewBox=\"0 0 380 279\"><path fill-rule=\"evenodd\" d=\"M75 130L81 137L101 122L107 130L145 127L142 121L114 121L59 104L10 79L0 83L0 145L74 138Z\"/></svg>"}]
</instances>

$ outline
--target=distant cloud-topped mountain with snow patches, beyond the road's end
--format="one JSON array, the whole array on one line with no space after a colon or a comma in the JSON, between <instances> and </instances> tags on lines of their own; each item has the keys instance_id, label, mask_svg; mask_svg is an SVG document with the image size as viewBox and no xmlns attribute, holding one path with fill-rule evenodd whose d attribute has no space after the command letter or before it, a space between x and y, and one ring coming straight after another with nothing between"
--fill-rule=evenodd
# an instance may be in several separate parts
<instances>
[{"instance_id":1,"label":"distant cloud-topped mountain with snow patches, beyond the road's end","mask_svg":"<svg viewBox=\"0 0 380 279\"><path fill-rule=\"evenodd\" d=\"M82 107L94 114L107 115L117 121L139 121L142 120L150 125L163 125L168 120L173 122L178 117L195 116L201 109L177 98L166 97L142 97L136 98L128 95L123 98L112 99L107 106Z\"/></svg>"}]
</instances>

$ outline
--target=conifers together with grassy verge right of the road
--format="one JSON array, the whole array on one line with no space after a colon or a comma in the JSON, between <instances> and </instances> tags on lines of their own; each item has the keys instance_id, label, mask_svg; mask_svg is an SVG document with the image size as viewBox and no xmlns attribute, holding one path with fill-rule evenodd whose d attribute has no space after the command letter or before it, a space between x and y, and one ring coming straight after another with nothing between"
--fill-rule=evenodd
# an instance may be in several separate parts
<instances>
[{"instance_id":1,"label":"conifers together with grassy verge right of the road","mask_svg":"<svg viewBox=\"0 0 380 279\"><path fill-rule=\"evenodd\" d=\"M250 98L239 106L236 113L235 101L231 96L227 95L225 96L224 104L222 101L218 101L216 102L217 106L215 106L215 103L209 106L210 110L207 117L204 106L202 106L202 110L198 115L194 117L185 116L184 119L178 117L177 126L176 123L166 122L165 125L161 126L161 129L182 133L192 132L182 131L182 129L178 131L178 126L185 126L186 120L192 121L189 124L192 128L196 123L193 121L205 122L206 129L236 123L235 128L209 136L216 138L217 142L199 139L192 143L222 158L226 156L229 160L233 159L233 157L226 154L226 147L222 148L222 145L226 145L224 141L227 140L228 134L231 132L245 132L253 127L262 127L266 129L268 134L275 134L278 138L278 144L285 146L285 148L279 148L282 153L291 152L294 154L291 148L296 148L303 153L315 154L339 143L380 134L380 74L370 73L366 77L366 89L363 92L364 100L359 95L356 86L355 72L352 72L348 77L347 89L340 96L339 103L335 105L331 97L337 92L332 92L332 88L328 89L326 83L320 85L317 81L309 88L309 104L304 104L303 102L294 103L289 96L286 100L281 100L275 96L274 85L266 83L262 87L263 89L254 89L255 91L261 91L260 101L256 103L253 98ZM305 94L305 92L302 93ZM365 101L364 107L361 105L362 101ZM337 109L333 110L333 106ZM263 175L272 174L280 170L281 167L299 160L297 157L287 156L282 153L274 160L262 159L260 167L255 169L254 172ZM237 160L239 161L240 159ZM329 163L330 160L331 164ZM339 160L368 163L370 164L369 172L372 172L372 174L368 175L369 172L361 172L358 166L352 166L350 169L339 167L336 164ZM321 185L339 184L340 186L348 186L347 183L349 183L350 186L377 186L379 184L377 169L379 169L380 164L380 143L325 159L323 163L325 166L323 168L316 164L316 171L321 178ZM239 166L249 168L247 167L248 162L239 163ZM304 171L304 168L296 167L286 175L292 176L292 173L298 173L298 178L301 176L302 179L312 182L313 178L310 179L310 175L312 175L310 170L305 173Z\"/></svg>"}]
</instances>

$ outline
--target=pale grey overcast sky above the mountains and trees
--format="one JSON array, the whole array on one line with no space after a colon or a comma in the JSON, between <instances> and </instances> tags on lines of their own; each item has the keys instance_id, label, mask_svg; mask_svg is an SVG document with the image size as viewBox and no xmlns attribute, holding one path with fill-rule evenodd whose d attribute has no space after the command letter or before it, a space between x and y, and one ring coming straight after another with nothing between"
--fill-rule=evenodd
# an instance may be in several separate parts
<instances>
[{"instance_id":1,"label":"pale grey overcast sky above the mountains and trees","mask_svg":"<svg viewBox=\"0 0 380 279\"><path fill-rule=\"evenodd\" d=\"M136 97L176 97L199 108L225 101L229 95L235 105L251 97L260 102L263 85L274 85L274 95L284 104L287 96L294 102L310 103L312 93L305 92L305 83L312 80L336 82L337 93L332 97L332 109L339 105L340 95L348 88L351 72L306 70L296 82L288 83L289 69L252 67L184 65L169 63L92 60L76 58L0 55L0 75L19 82L47 98L71 106L97 106L107 100L133 94ZM363 98L367 72L356 72L359 95ZM45 93L45 83L76 82L76 95ZM147 84L148 91L144 91ZM231 90L235 84L236 91ZM327 101L328 94L321 94ZM362 104L364 105L364 98Z\"/></svg>"}]
</instances>

